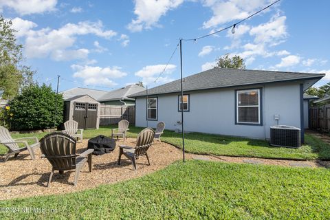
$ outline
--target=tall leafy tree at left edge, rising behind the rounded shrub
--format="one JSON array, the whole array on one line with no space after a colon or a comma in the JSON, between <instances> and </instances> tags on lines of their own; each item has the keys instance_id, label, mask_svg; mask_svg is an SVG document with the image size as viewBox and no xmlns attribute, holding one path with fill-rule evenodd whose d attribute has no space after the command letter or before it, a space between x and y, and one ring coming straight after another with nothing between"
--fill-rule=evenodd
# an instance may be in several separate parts
<instances>
[{"instance_id":1,"label":"tall leafy tree at left edge, rising behind the rounded shrub","mask_svg":"<svg viewBox=\"0 0 330 220\"><path fill-rule=\"evenodd\" d=\"M24 86L33 83L35 74L23 62L23 46L17 43L14 35L17 30L11 28L12 21L0 15L0 90L3 98L13 98Z\"/></svg>"}]
</instances>

